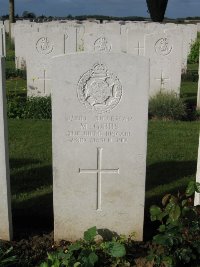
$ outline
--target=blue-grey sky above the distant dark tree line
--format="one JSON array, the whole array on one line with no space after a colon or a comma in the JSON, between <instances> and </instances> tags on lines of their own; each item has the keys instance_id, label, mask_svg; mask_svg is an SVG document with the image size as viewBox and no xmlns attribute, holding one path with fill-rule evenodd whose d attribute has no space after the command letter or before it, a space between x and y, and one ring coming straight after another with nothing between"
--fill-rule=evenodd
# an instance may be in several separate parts
<instances>
[{"instance_id":1,"label":"blue-grey sky above the distant dark tree line","mask_svg":"<svg viewBox=\"0 0 200 267\"><path fill-rule=\"evenodd\" d=\"M8 2L9 0L0 0L0 16L8 14ZM38 16L71 14L149 17L146 0L15 0L15 13L22 15L23 11L33 12ZM200 16L200 0L168 0L165 16Z\"/></svg>"}]
</instances>

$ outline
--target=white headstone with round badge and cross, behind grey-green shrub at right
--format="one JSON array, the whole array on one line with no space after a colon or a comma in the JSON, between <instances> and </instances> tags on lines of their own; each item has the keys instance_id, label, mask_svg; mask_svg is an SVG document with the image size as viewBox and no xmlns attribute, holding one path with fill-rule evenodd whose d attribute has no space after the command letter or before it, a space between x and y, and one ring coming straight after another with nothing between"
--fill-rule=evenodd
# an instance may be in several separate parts
<instances>
[{"instance_id":1,"label":"white headstone with round badge and cross, behind grey-green shrub at right","mask_svg":"<svg viewBox=\"0 0 200 267\"><path fill-rule=\"evenodd\" d=\"M179 30L145 36L145 56L150 58L150 96L159 91L180 93L182 38Z\"/></svg>"}]
</instances>

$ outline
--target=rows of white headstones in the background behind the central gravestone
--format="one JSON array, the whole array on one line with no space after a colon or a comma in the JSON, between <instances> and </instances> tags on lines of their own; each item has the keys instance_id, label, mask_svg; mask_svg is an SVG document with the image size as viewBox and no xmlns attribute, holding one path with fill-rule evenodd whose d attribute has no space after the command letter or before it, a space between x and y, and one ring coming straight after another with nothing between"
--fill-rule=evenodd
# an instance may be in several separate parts
<instances>
[{"instance_id":1,"label":"rows of white headstones in the background behind the central gravestone","mask_svg":"<svg viewBox=\"0 0 200 267\"><path fill-rule=\"evenodd\" d=\"M75 52L116 52L150 58L150 96L160 90L180 93L196 25L173 23L98 24L96 22L17 23L14 27L16 68L27 68L28 96L51 93L49 62Z\"/></svg>"}]
</instances>

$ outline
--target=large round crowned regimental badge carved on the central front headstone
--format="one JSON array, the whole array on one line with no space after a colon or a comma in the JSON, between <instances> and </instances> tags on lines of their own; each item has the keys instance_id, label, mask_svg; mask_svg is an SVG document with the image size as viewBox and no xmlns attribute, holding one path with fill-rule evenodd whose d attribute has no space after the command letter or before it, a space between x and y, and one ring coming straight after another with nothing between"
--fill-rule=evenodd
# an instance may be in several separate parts
<instances>
[{"instance_id":1,"label":"large round crowned regimental badge carved on the central front headstone","mask_svg":"<svg viewBox=\"0 0 200 267\"><path fill-rule=\"evenodd\" d=\"M79 101L88 109L103 113L112 110L122 97L122 85L104 64L97 63L80 78Z\"/></svg>"}]
</instances>

